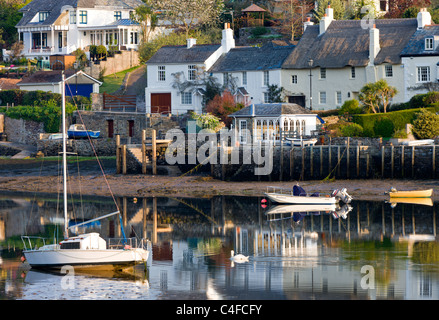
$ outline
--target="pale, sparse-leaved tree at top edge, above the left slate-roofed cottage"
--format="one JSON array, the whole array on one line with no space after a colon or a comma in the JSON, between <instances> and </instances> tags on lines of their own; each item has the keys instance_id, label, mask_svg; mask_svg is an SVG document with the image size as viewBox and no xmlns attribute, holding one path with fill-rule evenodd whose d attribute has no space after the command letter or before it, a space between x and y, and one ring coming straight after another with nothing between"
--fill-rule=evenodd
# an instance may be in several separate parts
<instances>
[{"instance_id":1,"label":"pale, sparse-leaved tree at top edge, above the left slate-roofed cottage","mask_svg":"<svg viewBox=\"0 0 439 320\"><path fill-rule=\"evenodd\" d=\"M153 6L161 10L175 26L189 31L200 25L214 25L224 9L223 0L152 0Z\"/></svg>"}]
</instances>

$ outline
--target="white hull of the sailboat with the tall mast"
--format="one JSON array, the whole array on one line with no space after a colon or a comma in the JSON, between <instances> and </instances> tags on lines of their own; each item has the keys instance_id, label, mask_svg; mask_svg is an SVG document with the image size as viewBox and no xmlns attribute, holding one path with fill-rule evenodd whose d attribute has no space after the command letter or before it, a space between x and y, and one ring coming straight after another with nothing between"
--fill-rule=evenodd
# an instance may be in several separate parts
<instances>
[{"instance_id":1,"label":"white hull of the sailboat with the tall mast","mask_svg":"<svg viewBox=\"0 0 439 320\"><path fill-rule=\"evenodd\" d=\"M98 265L119 266L142 263L148 259L145 249L54 249L23 251L32 268L61 268L65 265L95 267Z\"/></svg>"}]
</instances>

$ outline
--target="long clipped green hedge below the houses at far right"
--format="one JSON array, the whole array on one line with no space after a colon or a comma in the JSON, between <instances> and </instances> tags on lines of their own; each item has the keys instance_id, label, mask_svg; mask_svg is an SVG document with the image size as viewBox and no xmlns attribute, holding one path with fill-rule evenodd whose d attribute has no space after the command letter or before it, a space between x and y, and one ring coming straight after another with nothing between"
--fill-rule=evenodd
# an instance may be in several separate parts
<instances>
[{"instance_id":1,"label":"long clipped green hedge below the houses at far right","mask_svg":"<svg viewBox=\"0 0 439 320\"><path fill-rule=\"evenodd\" d=\"M433 106L428 108L406 109L399 111L392 111L387 113L368 113L368 114L355 114L352 115L352 121L363 127L363 135L366 137L375 137L378 134L375 132L376 122L383 119L389 119L392 121L394 131L405 129L407 123L412 123L415 119L416 113L421 109L426 109L431 112L438 112L439 106Z\"/></svg>"}]
</instances>

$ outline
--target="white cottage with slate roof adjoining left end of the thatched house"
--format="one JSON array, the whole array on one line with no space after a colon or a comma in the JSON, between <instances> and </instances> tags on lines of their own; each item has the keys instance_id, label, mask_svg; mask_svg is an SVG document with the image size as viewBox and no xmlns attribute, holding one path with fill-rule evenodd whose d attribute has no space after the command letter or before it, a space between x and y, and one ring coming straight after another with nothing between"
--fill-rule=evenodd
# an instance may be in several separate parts
<instances>
[{"instance_id":1,"label":"white cottage with slate roof adjoining left end of the thatched house","mask_svg":"<svg viewBox=\"0 0 439 320\"><path fill-rule=\"evenodd\" d=\"M218 59L208 73L218 83L229 86L237 102L245 106L269 103L272 101L268 86L282 87L282 63L293 50L293 45L275 45L273 42L262 47L233 48Z\"/></svg>"}]
</instances>

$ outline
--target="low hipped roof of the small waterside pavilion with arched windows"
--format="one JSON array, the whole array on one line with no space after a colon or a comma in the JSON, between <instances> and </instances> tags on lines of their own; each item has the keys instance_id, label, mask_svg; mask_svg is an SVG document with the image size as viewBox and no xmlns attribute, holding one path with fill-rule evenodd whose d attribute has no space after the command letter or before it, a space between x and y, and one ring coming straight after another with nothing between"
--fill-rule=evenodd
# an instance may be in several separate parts
<instances>
[{"instance_id":1,"label":"low hipped roof of the small waterside pavilion with arched windows","mask_svg":"<svg viewBox=\"0 0 439 320\"><path fill-rule=\"evenodd\" d=\"M252 104L245 108L242 108L235 113L229 115L229 117L252 117L254 116L273 116L277 117L286 114L313 114L308 109L299 106L295 103L264 103L264 104Z\"/></svg>"}]
</instances>

